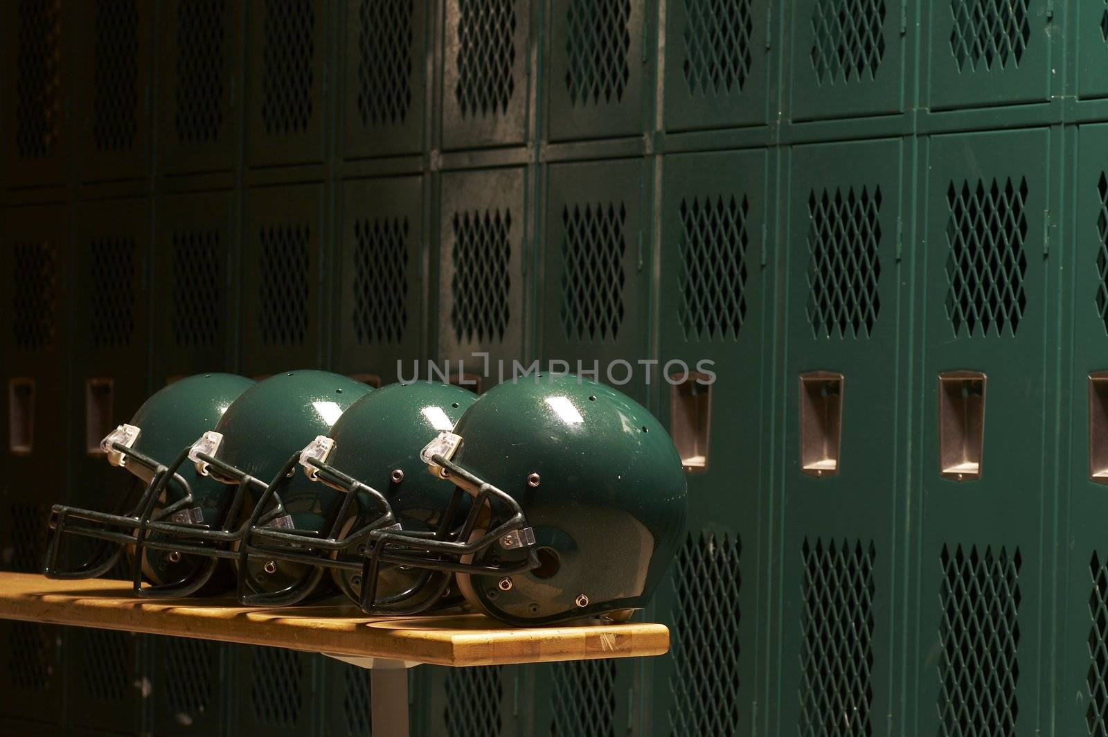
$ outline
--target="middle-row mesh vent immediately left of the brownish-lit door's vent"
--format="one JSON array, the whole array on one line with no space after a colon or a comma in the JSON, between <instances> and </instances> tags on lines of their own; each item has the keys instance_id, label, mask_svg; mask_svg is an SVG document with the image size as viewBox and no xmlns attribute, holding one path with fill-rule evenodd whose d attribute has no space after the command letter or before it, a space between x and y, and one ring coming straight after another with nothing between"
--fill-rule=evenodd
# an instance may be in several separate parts
<instances>
[{"instance_id":1,"label":"middle-row mesh vent immediately left of the brownish-lit door's vent","mask_svg":"<svg viewBox=\"0 0 1108 737\"><path fill-rule=\"evenodd\" d=\"M408 326L408 218L359 218L353 239L358 342L399 342Z\"/></svg>"}]
</instances>

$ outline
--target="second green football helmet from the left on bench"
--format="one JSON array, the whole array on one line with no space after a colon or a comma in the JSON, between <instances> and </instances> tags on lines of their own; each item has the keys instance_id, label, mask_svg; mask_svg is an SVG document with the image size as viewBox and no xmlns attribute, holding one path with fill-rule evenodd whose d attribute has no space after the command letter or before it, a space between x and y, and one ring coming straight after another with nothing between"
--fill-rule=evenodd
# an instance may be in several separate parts
<instances>
[{"instance_id":1,"label":"second green football helmet from the left on bench","mask_svg":"<svg viewBox=\"0 0 1108 737\"><path fill-rule=\"evenodd\" d=\"M181 467L191 465L228 488L222 524L152 522L140 530L137 549L206 556L209 569L217 559L230 560L238 567L240 597L244 592L310 593L318 577L308 566L250 556L244 539L255 526L319 535L336 524L331 518L341 505L341 494L295 475L296 462L306 443L330 431L342 412L370 390L360 381L315 370L277 373L250 387L178 458ZM198 572L176 591L142 593L186 595L203 586L208 574Z\"/></svg>"}]
</instances>

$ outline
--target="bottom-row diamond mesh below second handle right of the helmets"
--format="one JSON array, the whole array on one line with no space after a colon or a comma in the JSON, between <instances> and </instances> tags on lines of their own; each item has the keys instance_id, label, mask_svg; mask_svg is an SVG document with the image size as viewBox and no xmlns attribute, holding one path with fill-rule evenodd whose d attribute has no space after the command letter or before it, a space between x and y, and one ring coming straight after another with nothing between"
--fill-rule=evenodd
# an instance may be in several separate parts
<instances>
[{"instance_id":1,"label":"bottom-row diamond mesh below second handle right of the helmets","mask_svg":"<svg viewBox=\"0 0 1108 737\"><path fill-rule=\"evenodd\" d=\"M800 735L872 735L873 541L804 539Z\"/></svg>"}]
</instances>

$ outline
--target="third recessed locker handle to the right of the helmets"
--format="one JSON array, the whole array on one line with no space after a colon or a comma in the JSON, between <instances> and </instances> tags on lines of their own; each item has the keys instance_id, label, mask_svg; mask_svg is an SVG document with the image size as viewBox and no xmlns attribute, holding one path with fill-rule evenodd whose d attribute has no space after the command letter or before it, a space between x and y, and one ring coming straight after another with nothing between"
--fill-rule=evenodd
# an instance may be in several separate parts
<instances>
[{"instance_id":1,"label":"third recessed locker handle to the right of the helmets","mask_svg":"<svg viewBox=\"0 0 1108 737\"><path fill-rule=\"evenodd\" d=\"M952 481L981 478L985 447L985 375L938 375L938 473Z\"/></svg>"}]
</instances>

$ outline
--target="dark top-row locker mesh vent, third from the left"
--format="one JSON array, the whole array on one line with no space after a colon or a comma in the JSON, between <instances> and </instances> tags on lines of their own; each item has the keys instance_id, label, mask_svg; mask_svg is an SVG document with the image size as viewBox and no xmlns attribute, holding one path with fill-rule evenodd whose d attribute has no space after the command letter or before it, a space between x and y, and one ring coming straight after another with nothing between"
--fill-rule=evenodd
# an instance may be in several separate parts
<instances>
[{"instance_id":1,"label":"dark top-row locker mesh vent, third from the left","mask_svg":"<svg viewBox=\"0 0 1108 737\"><path fill-rule=\"evenodd\" d=\"M181 143L214 143L223 130L226 0L177 6L177 90L173 123Z\"/></svg>"}]
</instances>

